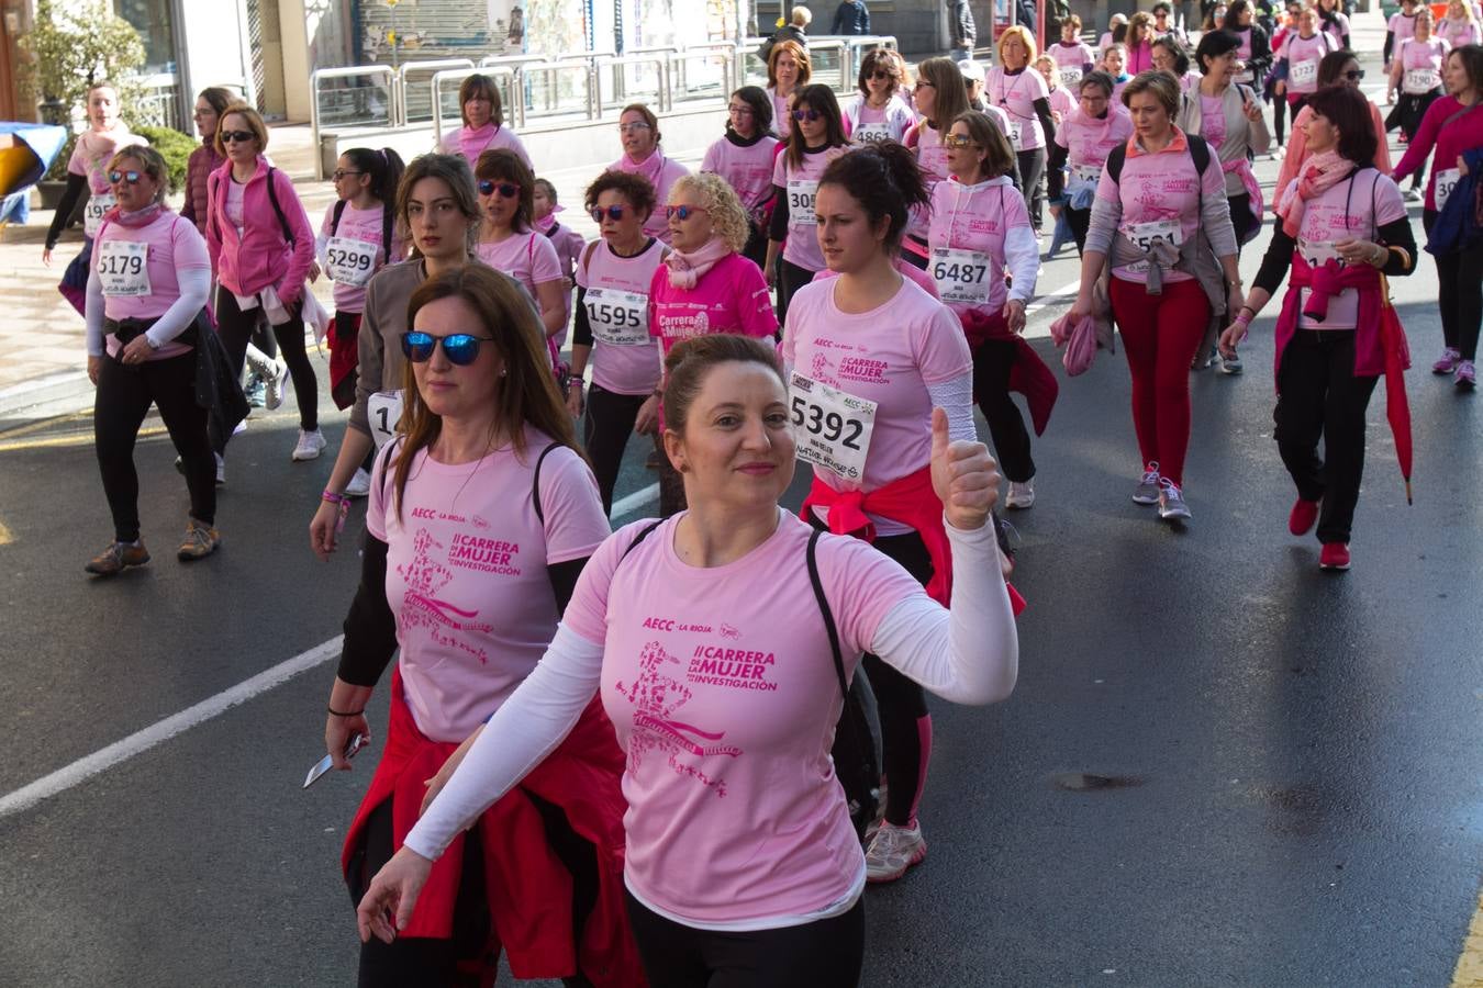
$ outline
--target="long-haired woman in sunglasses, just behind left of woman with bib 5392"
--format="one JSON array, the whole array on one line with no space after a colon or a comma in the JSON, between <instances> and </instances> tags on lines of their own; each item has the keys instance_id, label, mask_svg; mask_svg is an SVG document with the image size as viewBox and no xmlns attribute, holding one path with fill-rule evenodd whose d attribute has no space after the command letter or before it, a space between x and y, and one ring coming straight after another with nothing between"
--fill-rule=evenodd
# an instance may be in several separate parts
<instances>
[{"instance_id":1,"label":"long-haired woman in sunglasses, just behind left of woman with bib 5392","mask_svg":"<svg viewBox=\"0 0 1483 988\"><path fill-rule=\"evenodd\" d=\"M819 191L819 176L829 161L850 150L832 89L823 84L804 86L795 96L793 136L773 163L777 206L773 207L767 264L762 268L768 284L777 286L779 321L786 320L793 292L813 281L814 274L825 267L819 238L814 236L819 227L814 218L814 193ZM779 252L783 256L780 271L774 268Z\"/></svg>"}]
</instances>

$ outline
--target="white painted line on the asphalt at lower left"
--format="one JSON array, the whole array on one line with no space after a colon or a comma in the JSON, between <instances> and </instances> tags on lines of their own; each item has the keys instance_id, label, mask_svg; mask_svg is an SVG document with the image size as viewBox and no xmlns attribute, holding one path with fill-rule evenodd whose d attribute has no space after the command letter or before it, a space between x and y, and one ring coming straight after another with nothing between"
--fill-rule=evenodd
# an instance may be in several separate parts
<instances>
[{"instance_id":1,"label":"white painted line on the asphalt at lower left","mask_svg":"<svg viewBox=\"0 0 1483 988\"><path fill-rule=\"evenodd\" d=\"M116 764L128 761L133 755L142 754L150 748L169 741L175 735L196 727L197 724L203 724L218 714L224 714L233 707L245 704L260 693L265 693L277 686L282 686L300 672L305 672L316 665L328 662L340 655L340 644L343 638L344 635L337 635L323 644L314 646L308 652L295 655L286 662L279 662L271 670L265 670L249 680L237 683L228 690L209 696L194 707L187 707L178 714L172 714L171 717L166 717L144 730L135 732L123 741L116 741L107 748L99 748L70 766L58 769L56 772L52 772L30 785L21 787L15 792L7 792L4 797L0 797L0 819L28 810L42 800L65 792L99 772L105 772Z\"/></svg>"}]
</instances>

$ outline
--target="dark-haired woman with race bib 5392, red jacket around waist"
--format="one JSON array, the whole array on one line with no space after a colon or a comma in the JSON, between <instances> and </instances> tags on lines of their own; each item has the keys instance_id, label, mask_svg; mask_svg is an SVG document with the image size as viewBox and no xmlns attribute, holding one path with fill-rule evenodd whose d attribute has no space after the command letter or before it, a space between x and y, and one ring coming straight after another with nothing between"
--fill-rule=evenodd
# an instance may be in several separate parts
<instances>
[{"instance_id":1,"label":"dark-haired woman with race bib 5392, red jacket around waist","mask_svg":"<svg viewBox=\"0 0 1483 988\"><path fill-rule=\"evenodd\" d=\"M897 144L829 166L816 204L819 246L839 277L798 292L782 357L799 458L814 468L804 515L873 541L943 600L951 561L927 481L933 407L946 410L955 438L977 433L973 361L958 320L893 265L909 212L928 201L916 161ZM927 853L916 810L931 717L919 686L875 658L865 668L891 782L884 822L868 837L866 874L891 881Z\"/></svg>"}]
</instances>

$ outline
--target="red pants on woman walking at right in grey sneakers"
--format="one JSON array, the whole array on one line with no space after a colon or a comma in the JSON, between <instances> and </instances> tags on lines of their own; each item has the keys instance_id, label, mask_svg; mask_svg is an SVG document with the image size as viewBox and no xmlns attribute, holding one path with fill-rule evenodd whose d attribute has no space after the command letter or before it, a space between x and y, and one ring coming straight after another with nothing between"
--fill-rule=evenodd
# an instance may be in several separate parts
<instances>
[{"instance_id":1,"label":"red pants on woman walking at right in grey sneakers","mask_svg":"<svg viewBox=\"0 0 1483 988\"><path fill-rule=\"evenodd\" d=\"M1123 330L1133 372L1133 428L1145 464L1183 486L1189 449L1189 363L1195 358L1210 302L1195 280L1164 281L1149 295L1137 281L1114 277L1112 317Z\"/></svg>"}]
</instances>

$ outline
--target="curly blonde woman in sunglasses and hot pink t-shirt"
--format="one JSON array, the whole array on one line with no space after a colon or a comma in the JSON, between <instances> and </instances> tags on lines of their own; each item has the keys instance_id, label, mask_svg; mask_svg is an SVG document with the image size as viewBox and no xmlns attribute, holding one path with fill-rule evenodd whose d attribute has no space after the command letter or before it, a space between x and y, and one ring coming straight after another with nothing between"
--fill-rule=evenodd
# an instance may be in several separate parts
<instances>
[{"instance_id":1,"label":"curly blonde woman in sunglasses and hot pink t-shirt","mask_svg":"<svg viewBox=\"0 0 1483 988\"><path fill-rule=\"evenodd\" d=\"M838 127L839 114L832 120ZM660 360L676 344L694 336L736 333L774 339L777 316L767 281L740 253L746 246L747 222L736 190L718 175L687 175L670 190L664 215L673 252L650 281L650 336L658 339ZM817 244L811 227L807 236ZM684 511L685 484L664 452L663 407L664 382L660 381L651 400L639 407L635 428L639 433L654 430L658 508L667 518Z\"/></svg>"}]
</instances>

